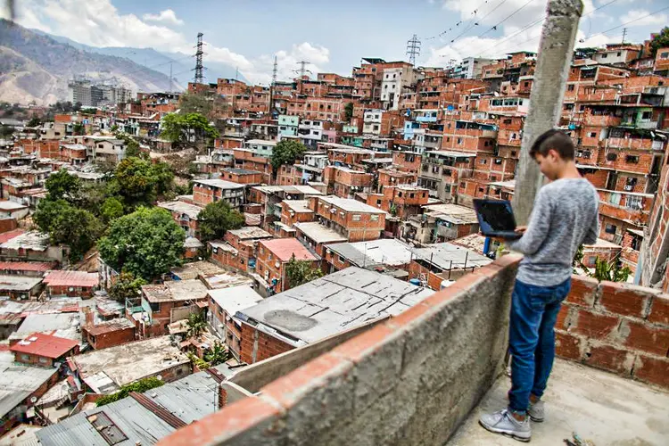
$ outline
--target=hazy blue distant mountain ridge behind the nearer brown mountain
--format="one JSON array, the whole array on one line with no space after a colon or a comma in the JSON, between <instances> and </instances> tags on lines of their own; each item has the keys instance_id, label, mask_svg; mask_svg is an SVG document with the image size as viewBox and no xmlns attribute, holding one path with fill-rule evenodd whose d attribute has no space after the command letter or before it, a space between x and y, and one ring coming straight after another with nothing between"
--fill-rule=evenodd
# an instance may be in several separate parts
<instances>
[{"instance_id":1,"label":"hazy blue distant mountain ridge behind the nearer brown mountain","mask_svg":"<svg viewBox=\"0 0 669 446\"><path fill-rule=\"evenodd\" d=\"M87 51L88 53L125 57L139 65L159 71L168 77L169 63L171 62L172 78L174 78L175 83L182 88L186 88L188 82L193 79L193 69L195 66L193 54L168 53L156 51L153 48L136 48L132 46L89 46L75 42L68 37L54 36L53 34L47 34L37 29L30 30L42 36L51 37L62 44L67 44L82 51ZM217 78L235 78L235 75L237 75L235 67L223 62L208 61L206 54L204 56L204 67L206 68L204 71L205 80L211 83L216 82ZM248 80L241 74L238 74L237 78L248 83Z\"/></svg>"}]
</instances>

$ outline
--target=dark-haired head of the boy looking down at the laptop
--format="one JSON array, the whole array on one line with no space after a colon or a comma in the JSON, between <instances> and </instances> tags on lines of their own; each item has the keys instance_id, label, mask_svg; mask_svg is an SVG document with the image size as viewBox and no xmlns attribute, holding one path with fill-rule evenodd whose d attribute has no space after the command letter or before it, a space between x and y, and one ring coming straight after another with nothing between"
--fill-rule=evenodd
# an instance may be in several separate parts
<instances>
[{"instance_id":1,"label":"dark-haired head of the boy looking down at the laptop","mask_svg":"<svg viewBox=\"0 0 669 446\"><path fill-rule=\"evenodd\" d=\"M552 129L542 133L530 149L541 173L550 180L558 178L569 162L574 162L574 142L565 132Z\"/></svg>"}]
</instances>

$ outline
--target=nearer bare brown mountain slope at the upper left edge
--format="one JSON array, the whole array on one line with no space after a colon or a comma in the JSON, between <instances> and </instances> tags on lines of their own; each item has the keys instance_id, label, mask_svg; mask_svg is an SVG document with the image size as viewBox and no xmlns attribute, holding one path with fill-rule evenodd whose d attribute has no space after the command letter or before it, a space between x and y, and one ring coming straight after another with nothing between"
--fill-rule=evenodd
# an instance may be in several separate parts
<instances>
[{"instance_id":1,"label":"nearer bare brown mountain slope at the upper left edge","mask_svg":"<svg viewBox=\"0 0 669 446\"><path fill-rule=\"evenodd\" d=\"M66 100L68 80L75 76L115 80L134 91L169 89L169 76L128 57L90 52L0 19L0 101Z\"/></svg>"}]
</instances>

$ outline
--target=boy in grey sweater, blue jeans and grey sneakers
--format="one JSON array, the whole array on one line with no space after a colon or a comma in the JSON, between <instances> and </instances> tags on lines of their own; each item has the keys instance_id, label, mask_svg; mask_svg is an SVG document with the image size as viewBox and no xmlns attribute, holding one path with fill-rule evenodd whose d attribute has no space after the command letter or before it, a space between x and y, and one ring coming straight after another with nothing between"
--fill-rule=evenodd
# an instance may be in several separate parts
<instances>
[{"instance_id":1,"label":"boy in grey sweater, blue jeans and grey sneakers","mask_svg":"<svg viewBox=\"0 0 669 446\"><path fill-rule=\"evenodd\" d=\"M541 187L523 236L504 241L524 253L516 276L509 321L511 390L508 409L483 415L479 422L497 434L529 442L530 418L544 418L541 395L555 357L554 327L571 287L572 261L581 244L599 234L599 197L574 162L574 143L559 130L539 136L530 150L549 184Z\"/></svg>"}]
</instances>

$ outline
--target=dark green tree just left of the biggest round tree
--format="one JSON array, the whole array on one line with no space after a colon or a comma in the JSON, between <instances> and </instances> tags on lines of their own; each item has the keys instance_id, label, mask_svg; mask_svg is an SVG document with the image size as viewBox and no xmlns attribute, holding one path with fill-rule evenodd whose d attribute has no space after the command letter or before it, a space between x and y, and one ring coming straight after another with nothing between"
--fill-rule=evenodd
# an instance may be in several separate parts
<instances>
[{"instance_id":1,"label":"dark green tree just left of the biggest round tree","mask_svg":"<svg viewBox=\"0 0 669 446\"><path fill-rule=\"evenodd\" d=\"M95 215L65 200L39 202L33 221L42 232L48 233L52 244L70 246L70 260L78 260L103 233L103 224Z\"/></svg>"}]
</instances>

